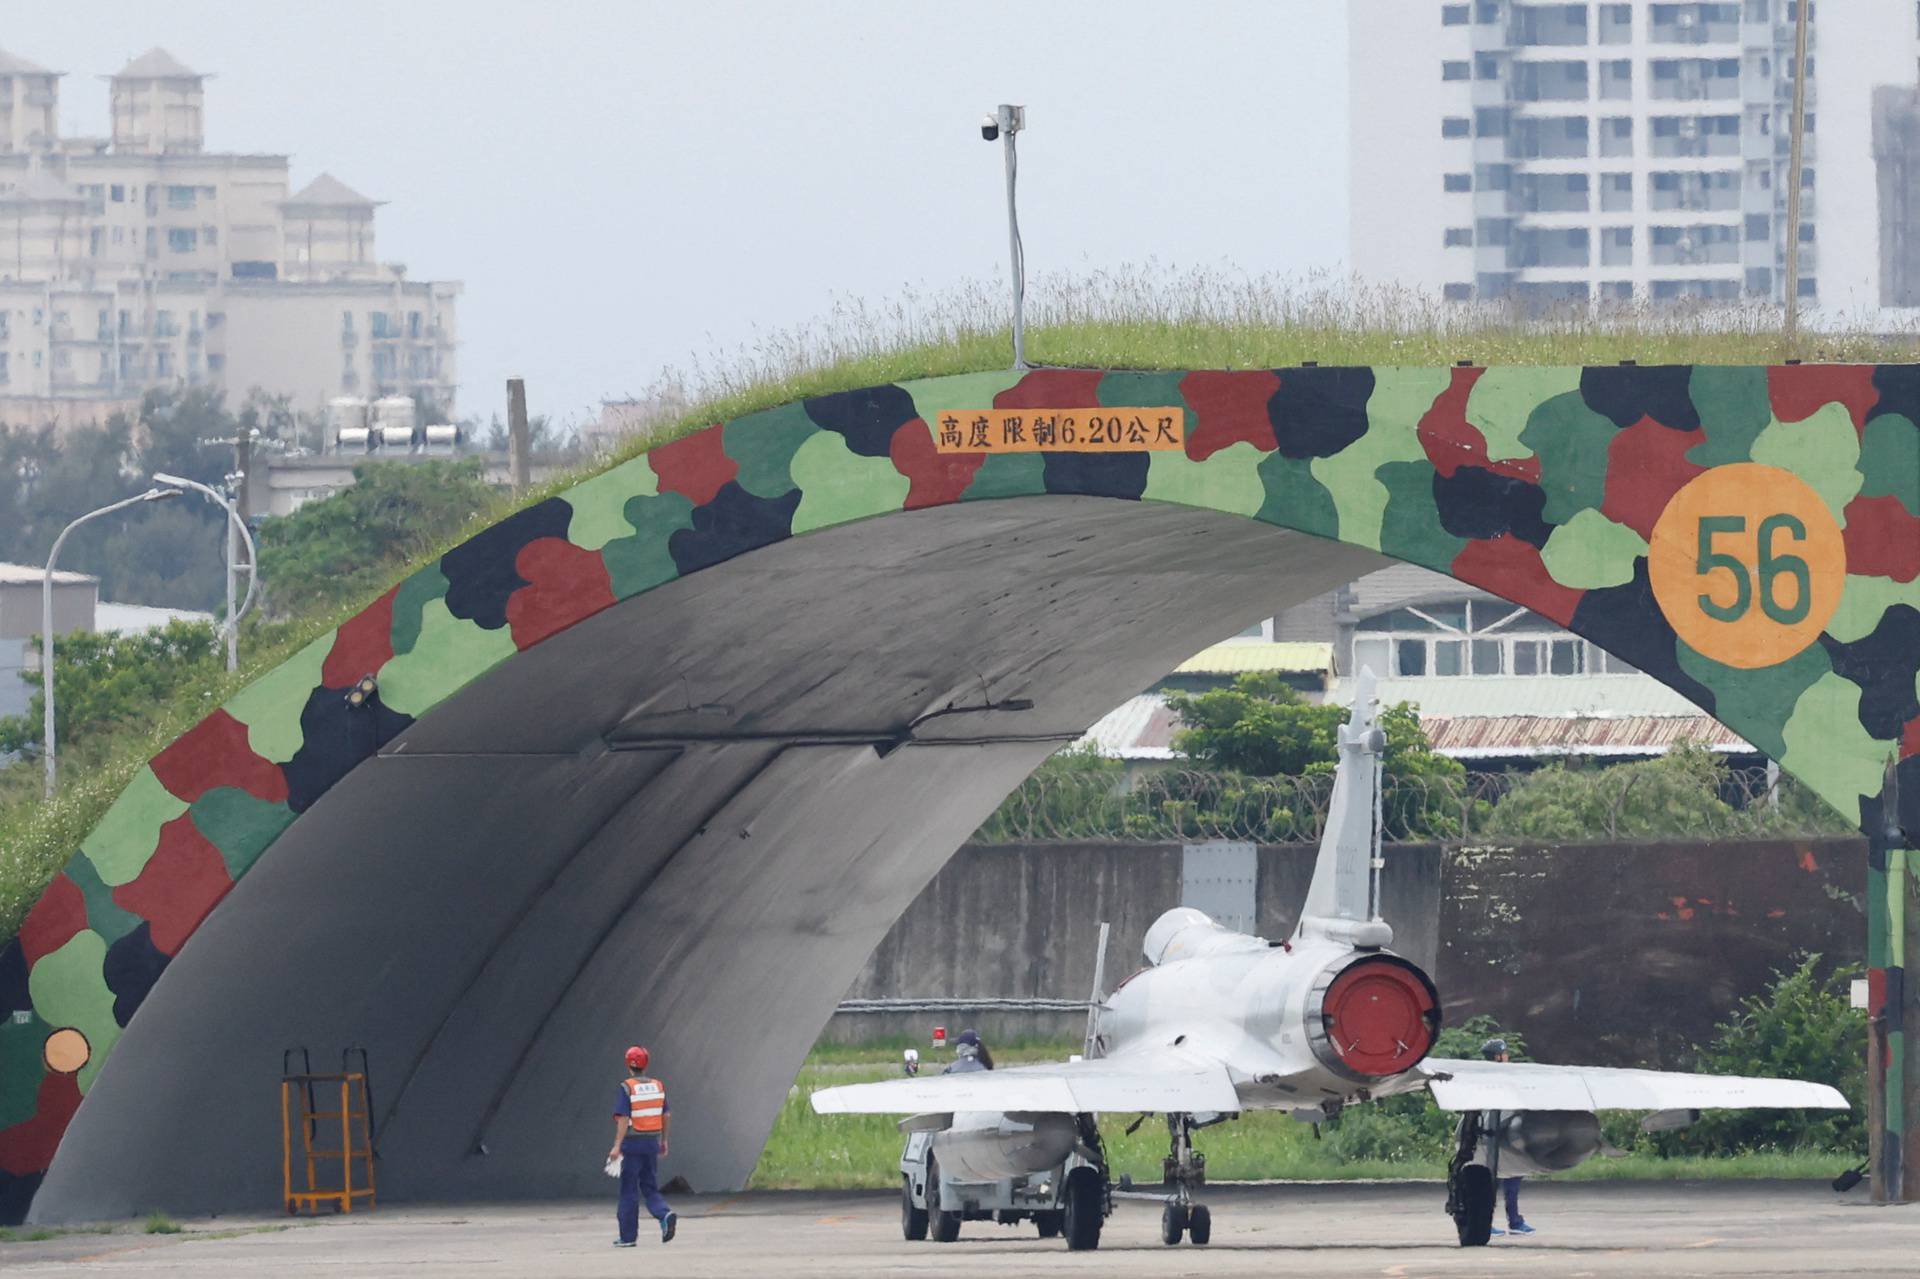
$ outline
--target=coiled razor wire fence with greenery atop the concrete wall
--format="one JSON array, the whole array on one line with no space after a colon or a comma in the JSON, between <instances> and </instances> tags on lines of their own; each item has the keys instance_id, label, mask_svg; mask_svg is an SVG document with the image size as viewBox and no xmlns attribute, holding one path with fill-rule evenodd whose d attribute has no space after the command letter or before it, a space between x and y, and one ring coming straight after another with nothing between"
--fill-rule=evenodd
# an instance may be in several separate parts
<instances>
[{"instance_id":1,"label":"coiled razor wire fence with greenery atop the concrete wall","mask_svg":"<svg viewBox=\"0 0 1920 1279\"><path fill-rule=\"evenodd\" d=\"M1703 753L1701 753L1703 755ZM975 832L975 843L1317 843L1332 774L1254 778L1198 768L1125 776L1117 766L1043 768ZM1603 768L1388 776L1390 843L1761 839L1859 833L1791 778L1766 768L1659 760Z\"/></svg>"}]
</instances>

